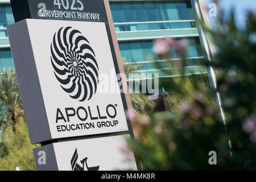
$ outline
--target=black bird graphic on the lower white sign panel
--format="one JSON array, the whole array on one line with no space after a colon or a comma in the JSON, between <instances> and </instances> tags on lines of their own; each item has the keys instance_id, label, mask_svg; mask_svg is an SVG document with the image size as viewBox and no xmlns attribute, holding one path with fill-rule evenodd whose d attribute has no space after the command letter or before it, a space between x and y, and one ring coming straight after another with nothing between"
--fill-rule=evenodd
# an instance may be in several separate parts
<instances>
[{"instance_id":1,"label":"black bird graphic on the lower white sign panel","mask_svg":"<svg viewBox=\"0 0 256 182\"><path fill-rule=\"evenodd\" d=\"M88 160L87 157L80 160L80 162L82 164L82 167L81 167L80 164L77 163L77 159L78 159L78 153L77 153L77 148L76 148L76 150L72 156L72 159L71 159L71 167L72 167L73 171L86 171L85 167L86 167L87 171L98 171L98 169L100 168L100 166L89 167L87 164L87 160Z\"/></svg>"}]
</instances>

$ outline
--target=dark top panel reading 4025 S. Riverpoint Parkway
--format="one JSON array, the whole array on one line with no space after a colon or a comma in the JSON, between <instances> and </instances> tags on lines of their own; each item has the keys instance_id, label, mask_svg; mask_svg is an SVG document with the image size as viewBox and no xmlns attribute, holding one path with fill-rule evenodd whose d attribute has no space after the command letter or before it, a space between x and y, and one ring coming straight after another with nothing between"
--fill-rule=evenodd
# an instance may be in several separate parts
<instances>
[{"instance_id":1,"label":"dark top panel reading 4025 S. Riverpoint Parkway","mask_svg":"<svg viewBox=\"0 0 256 182\"><path fill-rule=\"evenodd\" d=\"M104 0L11 0L15 22L26 18L108 22Z\"/></svg>"}]
</instances>

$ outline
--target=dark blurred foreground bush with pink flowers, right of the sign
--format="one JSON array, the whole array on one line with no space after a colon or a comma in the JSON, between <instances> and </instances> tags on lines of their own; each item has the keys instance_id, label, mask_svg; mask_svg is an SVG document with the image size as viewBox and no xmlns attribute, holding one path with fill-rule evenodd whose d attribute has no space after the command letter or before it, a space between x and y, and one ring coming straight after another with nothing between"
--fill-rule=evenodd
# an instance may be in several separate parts
<instances>
[{"instance_id":1,"label":"dark blurred foreground bush with pink flowers, right of the sign","mask_svg":"<svg viewBox=\"0 0 256 182\"><path fill-rule=\"evenodd\" d=\"M234 14L226 20L220 16L217 31L204 28L218 49L216 62L202 61L220 70L217 90L211 90L202 75L162 80L171 92L171 111L132 119L140 137L128 142L142 169L256 170L256 15L248 13L245 30L238 30ZM171 38L164 41L184 56L184 44ZM162 47L155 48L159 56L168 50ZM180 75L185 63L183 59L176 66ZM216 91L222 97L226 129L213 104ZM210 151L216 151L217 165L209 164Z\"/></svg>"}]
</instances>

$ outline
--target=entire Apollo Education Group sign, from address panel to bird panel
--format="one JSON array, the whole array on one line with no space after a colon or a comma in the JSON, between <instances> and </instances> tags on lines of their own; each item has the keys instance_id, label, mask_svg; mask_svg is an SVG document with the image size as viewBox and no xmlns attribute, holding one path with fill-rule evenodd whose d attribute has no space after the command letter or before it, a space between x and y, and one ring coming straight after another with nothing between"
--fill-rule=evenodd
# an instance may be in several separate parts
<instances>
[{"instance_id":1,"label":"entire Apollo Education Group sign, from address panel to bird panel","mask_svg":"<svg viewBox=\"0 0 256 182\"><path fill-rule=\"evenodd\" d=\"M42 144L37 169L138 169L134 155L120 162L119 148L133 137L131 101L108 1L11 6L16 23L7 32L28 131Z\"/></svg>"}]
</instances>

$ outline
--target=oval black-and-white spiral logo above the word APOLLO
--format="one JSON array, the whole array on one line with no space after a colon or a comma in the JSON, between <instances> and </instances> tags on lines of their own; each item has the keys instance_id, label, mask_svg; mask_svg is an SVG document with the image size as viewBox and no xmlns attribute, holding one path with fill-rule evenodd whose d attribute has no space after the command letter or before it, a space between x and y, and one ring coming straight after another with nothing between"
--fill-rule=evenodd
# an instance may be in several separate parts
<instances>
[{"instance_id":1,"label":"oval black-and-white spiral logo above the word APOLLO","mask_svg":"<svg viewBox=\"0 0 256 182\"><path fill-rule=\"evenodd\" d=\"M98 85L98 64L89 41L72 27L53 36L51 63L61 88L73 99L90 100Z\"/></svg>"}]
</instances>

